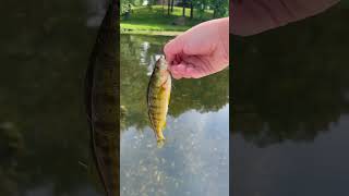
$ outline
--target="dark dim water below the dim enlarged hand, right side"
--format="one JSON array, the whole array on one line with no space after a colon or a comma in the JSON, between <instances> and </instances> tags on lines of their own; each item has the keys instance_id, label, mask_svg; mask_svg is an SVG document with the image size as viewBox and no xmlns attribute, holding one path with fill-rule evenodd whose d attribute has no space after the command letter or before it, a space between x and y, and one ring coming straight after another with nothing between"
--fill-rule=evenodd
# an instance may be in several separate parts
<instances>
[{"instance_id":1,"label":"dark dim water below the dim enlarged hand, right side","mask_svg":"<svg viewBox=\"0 0 349 196\"><path fill-rule=\"evenodd\" d=\"M349 195L348 20L232 38L233 195Z\"/></svg>"}]
</instances>

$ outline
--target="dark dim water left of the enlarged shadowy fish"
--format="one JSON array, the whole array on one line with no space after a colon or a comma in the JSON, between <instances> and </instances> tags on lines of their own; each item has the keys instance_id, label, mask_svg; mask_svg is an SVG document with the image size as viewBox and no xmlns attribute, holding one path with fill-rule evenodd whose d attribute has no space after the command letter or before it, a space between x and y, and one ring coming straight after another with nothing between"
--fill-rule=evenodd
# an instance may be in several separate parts
<instances>
[{"instance_id":1,"label":"dark dim water left of the enlarged shadowy fish","mask_svg":"<svg viewBox=\"0 0 349 196\"><path fill-rule=\"evenodd\" d=\"M1 4L0 195L100 195L79 164L89 154L83 78L96 28L88 21L99 11L92 1Z\"/></svg>"}]
</instances>

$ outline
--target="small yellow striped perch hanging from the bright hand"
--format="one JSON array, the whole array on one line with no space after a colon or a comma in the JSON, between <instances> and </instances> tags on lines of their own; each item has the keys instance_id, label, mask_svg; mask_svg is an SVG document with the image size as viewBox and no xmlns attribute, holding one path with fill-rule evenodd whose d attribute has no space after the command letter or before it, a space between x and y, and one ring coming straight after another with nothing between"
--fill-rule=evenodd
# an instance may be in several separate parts
<instances>
[{"instance_id":1,"label":"small yellow striped perch hanging from the bright hand","mask_svg":"<svg viewBox=\"0 0 349 196\"><path fill-rule=\"evenodd\" d=\"M171 74L168 71L168 63L165 57L161 56L155 63L147 88L148 118L158 147L165 144L163 131L166 126L170 94Z\"/></svg>"}]
</instances>

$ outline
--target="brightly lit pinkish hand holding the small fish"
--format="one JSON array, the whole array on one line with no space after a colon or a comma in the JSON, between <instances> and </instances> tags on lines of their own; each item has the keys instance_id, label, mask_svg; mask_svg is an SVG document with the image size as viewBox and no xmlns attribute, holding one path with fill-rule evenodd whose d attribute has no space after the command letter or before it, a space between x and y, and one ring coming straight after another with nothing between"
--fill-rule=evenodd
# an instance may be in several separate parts
<instances>
[{"instance_id":1,"label":"brightly lit pinkish hand holding the small fish","mask_svg":"<svg viewBox=\"0 0 349 196\"><path fill-rule=\"evenodd\" d=\"M164 52L174 78L200 78L229 64L229 17L201 23L168 42Z\"/></svg>"}]
</instances>

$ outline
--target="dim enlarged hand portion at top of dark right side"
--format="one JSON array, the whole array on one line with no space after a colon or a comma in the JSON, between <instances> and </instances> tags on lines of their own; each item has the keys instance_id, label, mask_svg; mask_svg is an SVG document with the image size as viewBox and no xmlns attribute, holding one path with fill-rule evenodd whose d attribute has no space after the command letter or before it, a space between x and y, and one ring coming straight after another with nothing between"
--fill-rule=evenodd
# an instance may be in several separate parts
<instances>
[{"instance_id":1,"label":"dim enlarged hand portion at top of dark right side","mask_svg":"<svg viewBox=\"0 0 349 196\"><path fill-rule=\"evenodd\" d=\"M230 33L254 35L325 11L339 0L230 0Z\"/></svg>"}]
</instances>

